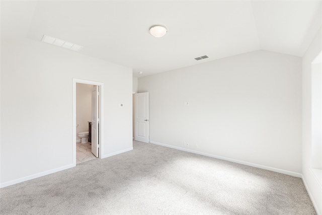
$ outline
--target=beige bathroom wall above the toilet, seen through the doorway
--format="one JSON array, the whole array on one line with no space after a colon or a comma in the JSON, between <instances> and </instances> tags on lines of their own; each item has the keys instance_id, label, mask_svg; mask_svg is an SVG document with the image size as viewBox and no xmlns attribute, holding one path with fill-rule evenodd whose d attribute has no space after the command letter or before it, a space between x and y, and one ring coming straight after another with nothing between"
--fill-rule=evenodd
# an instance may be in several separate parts
<instances>
[{"instance_id":1,"label":"beige bathroom wall above the toilet, seen through the doorway","mask_svg":"<svg viewBox=\"0 0 322 215\"><path fill-rule=\"evenodd\" d=\"M89 131L89 121L92 121L92 92L93 85L76 83L76 139L81 140L77 134Z\"/></svg>"}]
</instances>

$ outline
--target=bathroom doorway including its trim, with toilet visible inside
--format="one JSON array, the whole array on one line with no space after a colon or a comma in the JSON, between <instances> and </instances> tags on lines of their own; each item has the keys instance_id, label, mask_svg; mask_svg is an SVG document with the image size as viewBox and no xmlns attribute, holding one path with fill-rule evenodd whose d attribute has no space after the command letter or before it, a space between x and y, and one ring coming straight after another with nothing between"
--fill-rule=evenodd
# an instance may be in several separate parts
<instances>
[{"instance_id":1,"label":"bathroom doorway including its trim, with toilet visible inside","mask_svg":"<svg viewBox=\"0 0 322 215\"><path fill-rule=\"evenodd\" d=\"M103 83L73 79L73 165L101 158Z\"/></svg>"}]
</instances>

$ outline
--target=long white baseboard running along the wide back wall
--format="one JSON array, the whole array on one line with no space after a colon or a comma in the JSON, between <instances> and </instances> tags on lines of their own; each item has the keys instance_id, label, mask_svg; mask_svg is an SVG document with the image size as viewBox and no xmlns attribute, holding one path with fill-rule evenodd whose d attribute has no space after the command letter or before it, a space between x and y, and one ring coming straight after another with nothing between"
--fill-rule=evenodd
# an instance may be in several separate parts
<instances>
[{"instance_id":1,"label":"long white baseboard running along the wide back wall","mask_svg":"<svg viewBox=\"0 0 322 215\"><path fill-rule=\"evenodd\" d=\"M185 152L190 152L190 153L194 153L194 154L198 154L198 155L203 155L203 156L207 156L207 157L211 157L211 158L216 158L216 159L220 159L220 160L224 160L224 161L230 161L230 162L233 162L233 163L243 164L243 165L246 165L246 166L256 167L256 168L265 169L265 170L270 170L270 171L273 171L273 172L283 173L283 174L291 175L291 176L298 177L298 178L302 177L301 173L291 172L291 171L288 171L288 170L282 170L282 169L278 169L278 168L274 168L274 167L263 166L263 165L260 165L260 164L254 164L254 163L250 163L250 162L239 161L239 160L235 160L235 159L231 159L231 158L226 158L226 157L221 157L221 156L212 155L212 154L208 154L208 153L198 152L198 151L195 151L195 150L189 150L189 149L185 149L185 148L181 148L181 147L174 147L174 146L167 145L167 144L160 144L159 142L154 142L154 141L149 141L149 142L151 144L155 144L155 145L159 145L159 146L164 146L164 147L177 149L177 150L181 150L181 151L185 151Z\"/></svg>"}]
</instances>

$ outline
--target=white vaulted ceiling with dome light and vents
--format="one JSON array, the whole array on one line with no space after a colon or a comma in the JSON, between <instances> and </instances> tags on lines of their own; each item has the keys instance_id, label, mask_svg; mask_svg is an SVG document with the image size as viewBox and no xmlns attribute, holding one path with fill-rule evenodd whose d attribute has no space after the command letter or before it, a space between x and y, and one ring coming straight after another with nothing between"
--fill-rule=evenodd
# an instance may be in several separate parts
<instances>
[{"instance_id":1,"label":"white vaulted ceiling with dome light and vents","mask_svg":"<svg viewBox=\"0 0 322 215\"><path fill-rule=\"evenodd\" d=\"M259 49L303 56L320 27L321 1L1 1L2 39L46 34L134 77Z\"/></svg>"}]
</instances>

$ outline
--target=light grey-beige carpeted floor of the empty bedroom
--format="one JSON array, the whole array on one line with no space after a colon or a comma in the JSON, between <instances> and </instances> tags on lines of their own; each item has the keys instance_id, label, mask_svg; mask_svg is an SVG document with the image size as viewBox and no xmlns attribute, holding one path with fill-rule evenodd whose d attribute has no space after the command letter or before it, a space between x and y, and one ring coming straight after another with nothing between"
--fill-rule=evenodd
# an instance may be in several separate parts
<instances>
[{"instance_id":1,"label":"light grey-beige carpeted floor of the empty bedroom","mask_svg":"<svg viewBox=\"0 0 322 215\"><path fill-rule=\"evenodd\" d=\"M0 214L316 214L300 178L133 143L2 188Z\"/></svg>"}]
</instances>

